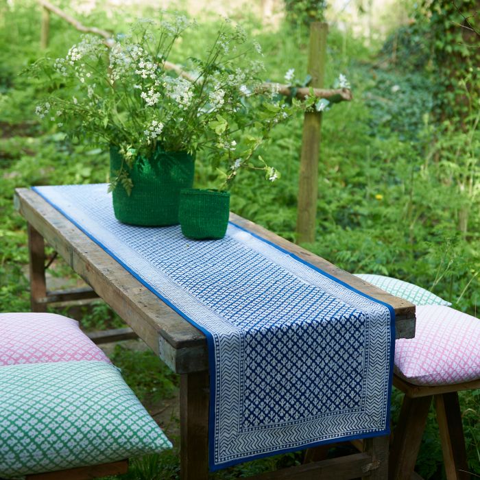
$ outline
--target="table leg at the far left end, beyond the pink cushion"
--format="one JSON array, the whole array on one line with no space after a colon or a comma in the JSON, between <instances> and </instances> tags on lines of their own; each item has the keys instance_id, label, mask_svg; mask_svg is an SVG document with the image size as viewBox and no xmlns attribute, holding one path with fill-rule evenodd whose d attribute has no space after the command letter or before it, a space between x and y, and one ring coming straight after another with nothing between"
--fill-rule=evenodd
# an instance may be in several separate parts
<instances>
[{"instance_id":1,"label":"table leg at the far left end, beyond the pink cushion","mask_svg":"<svg viewBox=\"0 0 480 480\"><path fill-rule=\"evenodd\" d=\"M45 241L32 225L28 224L28 254L30 270L30 305L32 312L46 312L47 304L38 303L38 298L47 296L45 281Z\"/></svg>"}]
</instances>

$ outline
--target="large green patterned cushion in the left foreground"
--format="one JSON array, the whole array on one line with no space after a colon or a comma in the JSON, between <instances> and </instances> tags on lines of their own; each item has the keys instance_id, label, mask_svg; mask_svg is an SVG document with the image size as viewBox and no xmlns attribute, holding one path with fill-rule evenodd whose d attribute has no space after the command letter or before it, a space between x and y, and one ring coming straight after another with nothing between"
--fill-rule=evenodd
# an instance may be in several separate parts
<instances>
[{"instance_id":1,"label":"large green patterned cushion in the left foreground","mask_svg":"<svg viewBox=\"0 0 480 480\"><path fill-rule=\"evenodd\" d=\"M0 477L104 464L171 448L103 361L0 367Z\"/></svg>"}]
</instances>

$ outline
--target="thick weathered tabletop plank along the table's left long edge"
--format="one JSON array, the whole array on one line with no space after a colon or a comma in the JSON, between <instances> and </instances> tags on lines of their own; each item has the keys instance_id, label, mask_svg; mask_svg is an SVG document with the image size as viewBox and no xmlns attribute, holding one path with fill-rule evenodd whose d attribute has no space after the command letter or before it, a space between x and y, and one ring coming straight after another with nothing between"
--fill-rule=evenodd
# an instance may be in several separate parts
<instances>
[{"instance_id":1,"label":"thick weathered tabletop plank along the table's left long edge","mask_svg":"<svg viewBox=\"0 0 480 480\"><path fill-rule=\"evenodd\" d=\"M125 272L40 195L17 189L15 203L21 215L172 370L206 370L203 333ZM39 296L45 297L46 292Z\"/></svg>"}]
</instances>

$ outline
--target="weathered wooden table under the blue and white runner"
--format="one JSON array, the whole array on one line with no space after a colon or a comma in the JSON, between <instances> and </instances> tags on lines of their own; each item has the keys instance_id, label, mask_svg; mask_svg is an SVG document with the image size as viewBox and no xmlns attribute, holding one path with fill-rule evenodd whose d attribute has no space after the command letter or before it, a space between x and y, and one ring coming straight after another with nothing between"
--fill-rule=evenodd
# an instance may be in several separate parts
<instances>
[{"instance_id":1,"label":"weathered wooden table under the blue and white runner","mask_svg":"<svg viewBox=\"0 0 480 480\"><path fill-rule=\"evenodd\" d=\"M117 263L96 243L56 211L40 195L16 189L16 209L28 222L28 248L32 311L43 312L47 304L100 297L131 327L91 335L96 343L140 337L169 368L180 374L180 462L182 480L208 478L208 356L206 338L178 313ZM278 237L238 215L236 224L289 250L301 259L343 280L368 295L387 302L396 313L396 337L413 337L415 306L394 297L332 263ZM69 263L91 289L47 291L45 241ZM338 459L311 461L298 467L256 476L256 479L351 479L387 478L388 438L363 442L361 452ZM315 457L315 452L310 458Z\"/></svg>"}]
</instances>

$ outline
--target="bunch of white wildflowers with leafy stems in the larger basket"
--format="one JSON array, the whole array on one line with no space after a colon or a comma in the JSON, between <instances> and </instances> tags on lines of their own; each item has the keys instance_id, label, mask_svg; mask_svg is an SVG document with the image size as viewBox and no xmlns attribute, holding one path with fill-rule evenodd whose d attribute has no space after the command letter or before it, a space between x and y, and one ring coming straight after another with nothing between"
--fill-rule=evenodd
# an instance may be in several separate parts
<instances>
[{"instance_id":1,"label":"bunch of white wildflowers with leafy stems in the larger basket","mask_svg":"<svg viewBox=\"0 0 480 480\"><path fill-rule=\"evenodd\" d=\"M110 45L85 35L66 56L41 58L25 70L53 91L36 106L40 119L73 141L118 149L123 160L110 190L120 185L130 195L133 163L154 158L159 148L190 154L207 149L215 169L224 165L222 187L241 168L269 169L265 161L256 165L253 154L292 108L252 95L261 84L263 64L252 58L261 55L259 43L226 19L203 55L190 57L180 74L167 68L169 56L193 27L186 16L163 12L156 21L129 25Z\"/></svg>"}]
</instances>

